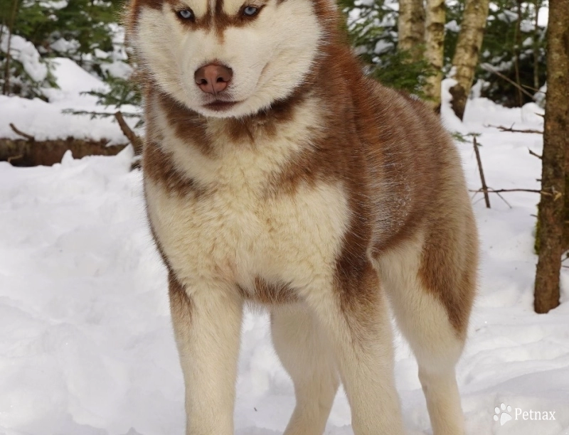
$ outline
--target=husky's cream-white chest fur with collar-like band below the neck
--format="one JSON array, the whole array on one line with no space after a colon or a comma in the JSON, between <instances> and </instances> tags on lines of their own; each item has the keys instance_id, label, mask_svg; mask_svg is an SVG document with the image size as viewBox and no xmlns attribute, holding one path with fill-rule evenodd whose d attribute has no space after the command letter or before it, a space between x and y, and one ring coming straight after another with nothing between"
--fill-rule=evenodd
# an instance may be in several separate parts
<instances>
[{"instance_id":1,"label":"husky's cream-white chest fur with collar-like band below the neck","mask_svg":"<svg viewBox=\"0 0 569 435\"><path fill-rule=\"evenodd\" d=\"M224 141L211 156L163 129L162 149L206 192L181 195L146 180L151 224L186 288L218 281L252 289L259 277L308 289L331 279L349 225L341 183L310 183L294 193L265 195L275 173L307 146L313 117L314 108L304 107L266 143ZM167 122L159 114L156 119Z\"/></svg>"}]
</instances>

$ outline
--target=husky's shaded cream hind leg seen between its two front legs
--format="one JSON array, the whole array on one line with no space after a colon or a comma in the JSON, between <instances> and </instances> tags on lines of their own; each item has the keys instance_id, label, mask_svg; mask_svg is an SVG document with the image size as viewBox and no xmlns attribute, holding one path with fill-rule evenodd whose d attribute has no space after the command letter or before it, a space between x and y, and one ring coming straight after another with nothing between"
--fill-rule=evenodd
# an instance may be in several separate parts
<instances>
[{"instance_id":1,"label":"husky's shaded cream hind leg seen between its two front legs","mask_svg":"<svg viewBox=\"0 0 569 435\"><path fill-rule=\"evenodd\" d=\"M285 435L321 435L339 385L326 338L302 304L273 308L271 331L275 350L292 377L297 397Z\"/></svg>"}]
</instances>

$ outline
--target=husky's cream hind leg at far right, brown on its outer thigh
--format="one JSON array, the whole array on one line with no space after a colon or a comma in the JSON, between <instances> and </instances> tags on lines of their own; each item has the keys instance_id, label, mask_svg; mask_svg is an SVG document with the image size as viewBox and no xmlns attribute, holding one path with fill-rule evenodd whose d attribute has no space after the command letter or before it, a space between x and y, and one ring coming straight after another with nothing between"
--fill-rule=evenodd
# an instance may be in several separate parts
<instances>
[{"instance_id":1,"label":"husky's cream hind leg at far right, brown on its outer thigh","mask_svg":"<svg viewBox=\"0 0 569 435\"><path fill-rule=\"evenodd\" d=\"M460 302L456 299L445 301L443 297L449 298L450 295L437 294L421 276L424 262L425 256L418 245L399 247L381 259L380 276L398 326L417 358L433 434L462 435L464 417L454 367L464 346L474 296L474 278L444 276L454 272L452 267L442 264L437 269L437 279L464 286L453 289L453 297L459 297ZM475 263L474 259L474 269ZM474 273L464 272L464 269L461 272L463 278L464 274ZM462 312L458 312L461 304Z\"/></svg>"}]
</instances>

